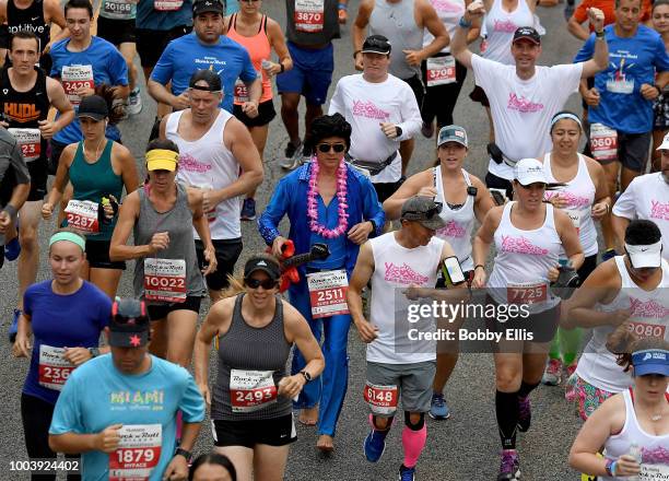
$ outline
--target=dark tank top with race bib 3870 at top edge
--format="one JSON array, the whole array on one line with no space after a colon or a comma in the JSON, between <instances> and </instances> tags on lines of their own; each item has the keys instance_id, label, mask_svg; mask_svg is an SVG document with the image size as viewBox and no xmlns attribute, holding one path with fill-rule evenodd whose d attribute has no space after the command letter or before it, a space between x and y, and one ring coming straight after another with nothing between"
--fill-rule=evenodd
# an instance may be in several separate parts
<instances>
[{"instance_id":1,"label":"dark tank top with race bib 3870 at top edge","mask_svg":"<svg viewBox=\"0 0 669 481\"><path fill-rule=\"evenodd\" d=\"M338 5L339 0L285 0L289 42L310 46L339 38Z\"/></svg>"}]
</instances>

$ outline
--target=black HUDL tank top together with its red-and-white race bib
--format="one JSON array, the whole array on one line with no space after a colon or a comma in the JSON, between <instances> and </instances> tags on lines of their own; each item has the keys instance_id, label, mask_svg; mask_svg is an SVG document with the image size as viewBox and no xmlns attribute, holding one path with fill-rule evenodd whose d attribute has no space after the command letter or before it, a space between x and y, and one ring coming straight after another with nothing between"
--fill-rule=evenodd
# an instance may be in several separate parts
<instances>
[{"instance_id":1,"label":"black HUDL tank top together with its red-and-white race bib","mask_svg":"<svg viewBox=\"0 0 669 481\"><path fill-rule=\"evenodd\" d=\"M47 141L39 133L39 120L46 120L50 107L46 74L39 68L35 68L35 71L37 80L27 92L14 90L9 78L9 68L0 71L1 110L9 122L10 133L21 145L26 162L46 160L47 150Z\"/></svg>"}]
</instances>

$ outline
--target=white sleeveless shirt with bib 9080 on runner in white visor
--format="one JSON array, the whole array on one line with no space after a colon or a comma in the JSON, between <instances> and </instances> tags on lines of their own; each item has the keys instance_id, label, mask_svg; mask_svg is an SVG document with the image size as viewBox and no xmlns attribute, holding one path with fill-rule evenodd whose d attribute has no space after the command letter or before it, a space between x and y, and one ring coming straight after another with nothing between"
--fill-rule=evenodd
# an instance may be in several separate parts
<instances>
[{"instance_id":1,"label":"white sleeveless shirt with bib 9080 on runner in white visor","mask_svg":"<svg viewBox=\"0 0 669 481\"><path fill-rule=\"evenodd\" d=\"M621 289L610 304L597 304L598 310L610 313L630 309L631 329L637 337L660 337L669 340L669 263L662 259L662 279L653 291L644 291L630 278L624 256L617 256L615 267L621 278ZM576 374L596 388L620 392L632 386L632 376L615 363L615 355L607 349L607 338L613 326L592 328L592 337L578 361Z\"/></svg>"}]
</instances>

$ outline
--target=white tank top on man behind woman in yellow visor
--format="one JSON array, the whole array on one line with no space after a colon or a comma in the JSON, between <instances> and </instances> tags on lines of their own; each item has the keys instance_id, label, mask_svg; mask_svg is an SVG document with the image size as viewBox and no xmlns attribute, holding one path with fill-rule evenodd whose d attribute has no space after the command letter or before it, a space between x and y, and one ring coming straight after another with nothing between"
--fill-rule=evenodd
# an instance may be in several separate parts
<instances>
[{"instance_id":1,"label":"white tank top on man behind woman in yellow visor","mask_svg":"<svg viewBox=\"0 0 669 481\"><path fill-rule=\"evenodd\" d=\"M211 128L196 141L184 140L178 133L184 110L175 112L167 119L165 136L179 148L177 180L201 189L223 189L239 177L239 163L223 143L223 131L232 114L219 109L219 116ZM211 238L236 239L242 237L239 199L225 199L211 212L209 220ZM196 232L196 238L199 238Z\"/></svg>"}]
</instances>

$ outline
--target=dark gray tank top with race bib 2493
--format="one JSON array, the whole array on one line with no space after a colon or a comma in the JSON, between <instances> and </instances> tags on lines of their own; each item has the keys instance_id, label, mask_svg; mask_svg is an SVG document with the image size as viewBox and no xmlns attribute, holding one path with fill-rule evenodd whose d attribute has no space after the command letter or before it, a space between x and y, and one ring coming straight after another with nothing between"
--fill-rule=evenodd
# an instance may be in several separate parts
<instances>
[{"instance_id":1,"label":"dark gray tank top with race bib 2493","mask_svg":"<svg viewBox=\"0 0 669 481\"><path fill-rule=\"evenodd\" d=\"M242 300L227 332L219 338L219 375L212 391L211 419L224 421L265 420L289 415L292 400L277 396L277 386L286 376L291 344L283 331L283 305L275 296L272 320L262 328L246 324Z\"/></svg>"}]
</instances>

